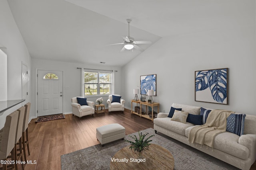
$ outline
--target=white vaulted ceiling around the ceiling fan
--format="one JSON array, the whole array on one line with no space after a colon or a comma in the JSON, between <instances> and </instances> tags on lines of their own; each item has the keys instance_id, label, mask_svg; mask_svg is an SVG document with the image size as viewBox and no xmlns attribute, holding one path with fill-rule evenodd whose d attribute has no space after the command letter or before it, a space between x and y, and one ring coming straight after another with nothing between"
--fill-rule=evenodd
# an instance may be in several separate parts
<instances>
[{"instance_id":1,"label":"white vaulted ceiling around the ceiling fan","mask_svg":"<svg viewBox=\"0 0 256 170\"><path fill-rule=\"evenodd\" d=\"M255 0L254 0L255 1ZM240 0L8 0L32 58L123 66L122 36L150 40L248 24L255 8ZM255 15L255 14L254 14ZM249 17L248 17L249 18ZM139 45L147 49L152 44Z\"/></svg>"}]
</instances>

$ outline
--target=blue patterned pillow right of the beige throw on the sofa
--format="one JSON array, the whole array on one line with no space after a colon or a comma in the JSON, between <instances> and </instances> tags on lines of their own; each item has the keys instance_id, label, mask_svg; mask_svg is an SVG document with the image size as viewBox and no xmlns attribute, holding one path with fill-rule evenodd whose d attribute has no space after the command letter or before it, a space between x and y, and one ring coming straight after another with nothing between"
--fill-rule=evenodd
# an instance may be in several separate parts
<instances>
[{"instance_id":1,"label":"blue patterned pillow right of the beige throw on the sofa","mask_svg":"<svg viewBox=\"0 0 256 170\"><path fill-rule=\"evenodd\" d=\"M238 136L244 134L244 120L246 114L231 114L227 118L226 131L234 133Z\"/></svg>"}]
</instances>

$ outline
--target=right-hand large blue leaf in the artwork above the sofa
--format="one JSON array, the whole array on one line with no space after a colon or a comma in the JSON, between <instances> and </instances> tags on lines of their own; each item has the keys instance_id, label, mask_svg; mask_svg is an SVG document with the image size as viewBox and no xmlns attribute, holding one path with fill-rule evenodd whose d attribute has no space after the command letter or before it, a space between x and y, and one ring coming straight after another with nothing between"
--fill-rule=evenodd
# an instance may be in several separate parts
<instances>
[{"instance_id":1,"label":"right-hand large blue leaf in the artwork above the sofa","mask_svg":"<svg viewBox=\"0 0 256 170\"><path fill-rule=\"evenodd\" d=\"M212 92L212 98L223 103L227 97L227 70L212 70L208 76L208 86Z\"/></svg>"}]
</instances>

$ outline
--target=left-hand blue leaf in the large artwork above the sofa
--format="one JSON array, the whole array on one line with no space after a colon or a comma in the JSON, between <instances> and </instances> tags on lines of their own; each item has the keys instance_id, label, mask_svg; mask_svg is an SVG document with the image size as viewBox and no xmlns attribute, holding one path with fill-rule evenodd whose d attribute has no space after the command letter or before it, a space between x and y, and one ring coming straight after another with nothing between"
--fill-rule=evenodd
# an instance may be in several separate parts
<instances>
[{"instance_id":1,"label":"left-hand blue leaf in the large artwork above the sofa","mask_svg":"<svg viewBox=\"0 0 256 170\"><path fill-rule=\"evenodd\" d=\"M208 76L210 71L198 71L196 74L196 92L208 88Z\"/></svg>"}]
</instances>

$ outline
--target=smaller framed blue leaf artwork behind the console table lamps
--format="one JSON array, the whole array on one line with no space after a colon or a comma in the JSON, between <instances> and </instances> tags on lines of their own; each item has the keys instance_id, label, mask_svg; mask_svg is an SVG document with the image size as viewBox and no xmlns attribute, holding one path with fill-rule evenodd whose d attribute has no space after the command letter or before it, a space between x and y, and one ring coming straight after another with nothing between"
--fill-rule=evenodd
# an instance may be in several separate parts
<instances>
[{"instance_id":1,"label":"smaller framed blue leaf artwork behind the console table lamps","mask_svg":"<svg viewBox=\"0 0 256 170\"><path fill-rule=\"evenodd\" d=\"M148 95L148 90L154 90L156 96L156 74L140 76L140 94Z\"/></svg>"}]
</instances>

